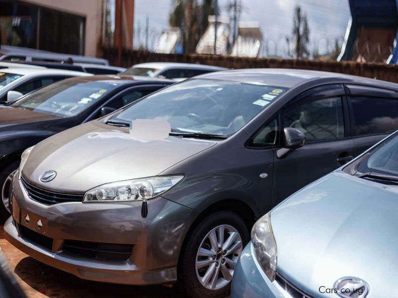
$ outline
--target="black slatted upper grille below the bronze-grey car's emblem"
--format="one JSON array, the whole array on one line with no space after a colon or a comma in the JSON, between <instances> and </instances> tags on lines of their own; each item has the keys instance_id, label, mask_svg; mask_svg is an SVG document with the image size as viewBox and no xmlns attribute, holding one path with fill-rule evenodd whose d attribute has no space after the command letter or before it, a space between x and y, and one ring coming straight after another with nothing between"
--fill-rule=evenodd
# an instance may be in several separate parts
<instances>
[{"instance_id":1,"label":"black slatted upper grille below the bronze-grey car's emblem","mask_svg":"<svg viewBox=\"0 0 398 298\"><path fill-rule=\"evenodd\" d=\"M84 195L71 195L71 194L62 194L51 192L48 190L44 190L33 186L28 183L23 177L21 177L21 182L26 192L33 201L39 202L45 205L54 205L58 203L65 202L82 202Z\"/></svg>"}]
</instances>

